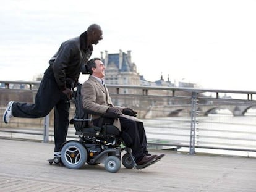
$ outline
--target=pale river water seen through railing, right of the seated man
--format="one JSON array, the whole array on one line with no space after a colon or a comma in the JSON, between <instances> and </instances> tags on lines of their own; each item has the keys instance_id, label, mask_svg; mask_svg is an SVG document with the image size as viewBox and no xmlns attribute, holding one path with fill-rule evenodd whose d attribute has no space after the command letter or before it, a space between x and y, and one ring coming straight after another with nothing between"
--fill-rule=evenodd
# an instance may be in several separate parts
<instances>
[{"instance_id":1,"label":"pale river water seen through railing, right of the seated man","mask_svg":"<svg viewBox=\"0 0 256 192\"><path fill-rule=\"evenodd\" d=\"M143 122L148 142L189 145L190 117L145 119ZM252 152L256 151L255 109L249 109L241 117L233 117L225 110L210 114L208 117L198 117L197 130L195 152L256 157L256 152ZM205 149L205 147L219 149ZM163 146L163 148L169 147ZM247 151L239 151L244 149ZM182 147L177 151L189 152L189 148Z\"/></svg>"}]
</instances>

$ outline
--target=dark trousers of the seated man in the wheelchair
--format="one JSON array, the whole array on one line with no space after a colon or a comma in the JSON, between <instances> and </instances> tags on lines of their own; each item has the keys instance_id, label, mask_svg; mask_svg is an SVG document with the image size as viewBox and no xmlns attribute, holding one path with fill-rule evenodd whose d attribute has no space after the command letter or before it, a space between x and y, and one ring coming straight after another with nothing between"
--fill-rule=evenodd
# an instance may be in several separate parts
<instances>
[{"instance_id":1,"label":"dark trousers of the seated man in the wheelchair","mask_svg":"<svg viewBox=\"0 0 256 192\"><path fill-rule=\"evenodd\" d=\"M94 124L98 125L99 119L94 120ZM147 138L145 129L142 122L135 122L134 120L127 119L126 117L119 117L121 124L121 138L124 143L132 149L132 155L135 157L135 161L140 160L147 151ZM103 120L103 123L113 123L114 119Z\"/></svg>"}]
</instances>

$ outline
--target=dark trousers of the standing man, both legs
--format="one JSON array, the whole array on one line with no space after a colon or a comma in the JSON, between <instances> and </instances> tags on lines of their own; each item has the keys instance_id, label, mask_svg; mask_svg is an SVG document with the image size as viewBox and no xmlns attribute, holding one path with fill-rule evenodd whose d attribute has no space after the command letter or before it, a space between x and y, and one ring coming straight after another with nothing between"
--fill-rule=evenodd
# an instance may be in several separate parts
<instances>
[{"instance_id":1,"label":"dark trousers of the standing man, both legs","mask_svg":"<svg viewBox=\"0 0 256 192\"><path fill-rule=\"evenodd\" d=\"M61 151L66 142L69 127L70 103L66 94L59 90L51 67L45 71L35 96L35 103L14 102L12 115L14 117L38 118L45 117L54 107L54 151Z\"/></svg>"}]
</instances>

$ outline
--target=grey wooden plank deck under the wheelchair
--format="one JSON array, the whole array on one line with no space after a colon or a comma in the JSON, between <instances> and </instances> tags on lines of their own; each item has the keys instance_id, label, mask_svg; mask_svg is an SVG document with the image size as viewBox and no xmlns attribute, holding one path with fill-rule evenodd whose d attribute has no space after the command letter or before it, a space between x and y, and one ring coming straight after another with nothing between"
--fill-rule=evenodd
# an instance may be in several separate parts
<instances>
[{"instance_id":1,"label":"grey wooden plank deck under the wheelchair","mask_svg":"<svg viewBox=\"0 0 256 192\"><path fill-rule=\"evenodd\" d=\"M142 170L49 165L54 144L0 139L0 191L256 191L256 159L174 151Z\"/></svg>"}]
</instances>

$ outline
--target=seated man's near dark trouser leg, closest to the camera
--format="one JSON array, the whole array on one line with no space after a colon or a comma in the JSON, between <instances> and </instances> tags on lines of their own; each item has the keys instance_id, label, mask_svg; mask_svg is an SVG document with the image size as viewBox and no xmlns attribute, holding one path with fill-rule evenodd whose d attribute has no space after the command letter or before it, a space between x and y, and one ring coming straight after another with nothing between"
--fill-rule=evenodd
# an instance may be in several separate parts
<instances>
[{"instance_id":1,"label":"seated man's near dark trouser leg, closest to the camera","mask_svg":"<svg viewBox=\"0 0 256 192\"><path fill-rule=\"evenodd\" d=\"M124 117L119 118L122 131L127 133L132 139L132 155L135 157L135 161L139 161L143 156L142 145L140 144L139 131L137 124L134 120L130 120ZM123 138L125 141L126 138Z\"/></svg>"}]
</instances>

